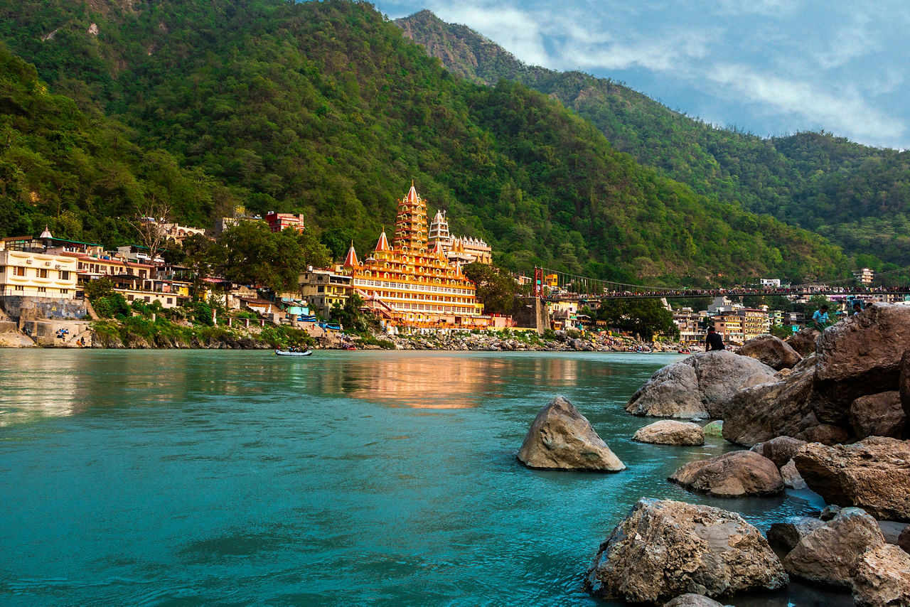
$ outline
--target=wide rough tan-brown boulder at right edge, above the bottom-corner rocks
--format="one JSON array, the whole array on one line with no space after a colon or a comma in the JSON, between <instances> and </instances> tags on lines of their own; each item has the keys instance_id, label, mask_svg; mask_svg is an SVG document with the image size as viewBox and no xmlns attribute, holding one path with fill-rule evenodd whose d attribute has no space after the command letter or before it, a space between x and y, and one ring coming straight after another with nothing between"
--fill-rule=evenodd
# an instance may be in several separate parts
<instances>
[{"instance_id":1,"label":"wide rough tan-brown boulder at right edge, above the bottom-corner rocks","mask_svg":"<svg viewBox=\"0 0 910 607\"><path fill-rule=\"evenodd\" d=\"M809 489L876 519L910 521L910 441L872 437L852 445L804 445L794 456Z\"/></svg>"}]
</instances>

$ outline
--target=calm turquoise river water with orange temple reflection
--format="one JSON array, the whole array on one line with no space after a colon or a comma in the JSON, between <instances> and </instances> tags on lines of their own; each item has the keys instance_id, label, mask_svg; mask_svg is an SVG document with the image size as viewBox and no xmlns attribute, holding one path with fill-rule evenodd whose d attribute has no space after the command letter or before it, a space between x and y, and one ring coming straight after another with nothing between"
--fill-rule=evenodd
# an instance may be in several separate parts
<instances>
[{"instance_id":1,"label":"calm turquoise river water with orange temple reflection","mask_svg":"<svg viewBox=\"0 0 910 607\"><path fill-rule=\"evenodd\" d=\"M811 492L665 481L732 447L643 445L622 410L670 355L0 350L0 604L597 605L599 544L642 496L760 529ZM515 459L562 394L628 466ZM792 584L737 605L851 604Z\"/></svg>"}]
</instances>

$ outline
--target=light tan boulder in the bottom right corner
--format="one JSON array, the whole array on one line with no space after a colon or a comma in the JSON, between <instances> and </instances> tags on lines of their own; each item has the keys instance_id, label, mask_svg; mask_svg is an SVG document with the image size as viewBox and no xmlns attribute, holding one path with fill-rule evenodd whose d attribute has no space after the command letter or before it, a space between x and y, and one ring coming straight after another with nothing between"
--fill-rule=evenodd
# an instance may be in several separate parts
<instances>
[{"instance_id":1,"label":"light tan boulder in the bottom right corner","mask_svg":"<svg viewBox=\"0 0 910 607\"><path fill-rule=\"evenodd\" d=\"M910 554L891 544L865 551L856 562L854 604L910 605Z\"/></svg>"}]
</instances>

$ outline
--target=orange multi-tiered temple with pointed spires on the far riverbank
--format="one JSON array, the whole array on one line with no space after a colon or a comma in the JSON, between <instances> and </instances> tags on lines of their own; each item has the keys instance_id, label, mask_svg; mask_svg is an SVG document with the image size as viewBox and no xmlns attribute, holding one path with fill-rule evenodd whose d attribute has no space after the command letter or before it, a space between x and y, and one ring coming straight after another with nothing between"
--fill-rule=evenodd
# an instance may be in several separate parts
<instances>
[{"instance_id":1,"label":"orange multi-tiered temple with pointed spires on the far riverbank","mask_svg":"<svg viewBox=\"0 0 910 607\"><path fill-rule=\"evenodd\" d=\"M351 288L380 319L410 327L483 328L483 305L476 288L450 264L439 244L430 249L427 203L411 184L399 200L392 245L385 231L375 250L360 262L353 244L343 273Z\"/></svg>"}]
</instances>

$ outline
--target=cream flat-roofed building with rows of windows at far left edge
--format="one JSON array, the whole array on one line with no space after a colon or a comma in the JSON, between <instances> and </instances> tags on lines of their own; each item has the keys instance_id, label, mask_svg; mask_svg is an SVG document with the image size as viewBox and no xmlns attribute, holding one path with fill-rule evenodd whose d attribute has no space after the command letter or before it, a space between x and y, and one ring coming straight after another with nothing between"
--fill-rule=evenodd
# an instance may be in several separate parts
<instances>
[{"instance_id":1,"label":"cream flat-roofed building with rows of windows at far left edge","mask_svg":"<svg viewBox=\"0 0 910 607\"><path fill-rule=\"evenodd\" d=\"M72 299L76 259L22 250L0 250L0 295Z\"/></svg>"}]
</instances>

